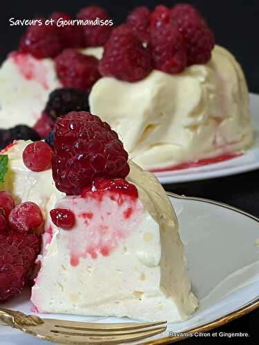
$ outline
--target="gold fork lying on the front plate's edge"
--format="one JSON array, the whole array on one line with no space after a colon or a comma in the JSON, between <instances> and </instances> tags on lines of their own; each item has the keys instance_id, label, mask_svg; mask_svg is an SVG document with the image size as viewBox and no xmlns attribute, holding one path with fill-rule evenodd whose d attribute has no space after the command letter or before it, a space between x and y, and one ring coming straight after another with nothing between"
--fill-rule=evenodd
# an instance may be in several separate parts
<instances>
[{"instance_id":1,"label":"gold fork lying on the front plate's edge","mask_svg":"<svg viewBox=\"0 0 259 345\"><path fill-rule=\"evenodd\" d=\"M19 311L0 308L0 320L39 339L61 344L120 344L151 337L166 331L166 321L95 324L57 319L41 319Z\"/></svg>"}]
</instances>

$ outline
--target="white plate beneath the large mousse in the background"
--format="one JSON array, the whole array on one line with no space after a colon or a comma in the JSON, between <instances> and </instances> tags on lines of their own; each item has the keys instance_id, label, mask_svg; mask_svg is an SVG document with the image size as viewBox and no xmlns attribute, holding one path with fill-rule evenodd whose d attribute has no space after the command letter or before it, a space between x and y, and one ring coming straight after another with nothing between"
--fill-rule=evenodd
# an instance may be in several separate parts
<instances>
[{"instance_id":1,"label":"white plate beneath the large mousse in the background","mask_svg":"<svg viewBox=\"0 0 259 345\"><path fill-rule=\"evenodd\" d=\"M259 95L250 94L252 122L255 128L255 143L244 155L196 168L187 168L174 171L155 172L162 184L176 184L179 182L211 179L259 168Z\"/></svg>"}]
</instances>

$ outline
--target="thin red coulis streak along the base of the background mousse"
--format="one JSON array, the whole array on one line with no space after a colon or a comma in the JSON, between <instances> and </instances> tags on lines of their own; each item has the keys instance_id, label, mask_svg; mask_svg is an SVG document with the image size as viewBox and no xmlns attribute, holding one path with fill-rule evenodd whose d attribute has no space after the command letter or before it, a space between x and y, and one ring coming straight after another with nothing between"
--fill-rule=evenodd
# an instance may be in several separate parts
<instances>
[{"instance_id":1,"label":"thin red coulis streak along the base of the background mousse","mask_svg":"<svg viewBox=\"0 0 259 345\"><path fill-rule=\"evenodd\" d=\"M186 161L185 163L181 163L175 166L169 166L167 168L155 168L151 169L151 172L164 172L164 171L174 171L174 170L182 170L188 168L198 168L199 166L207 166L209 164L221 163L222 161L228 161L229 159L233 159L236 157L242 156L242 153L225 153L224 155L220 155L217 157L212 158L204 158L198 159L197 161Z\"/></svg>"}]
</instances>

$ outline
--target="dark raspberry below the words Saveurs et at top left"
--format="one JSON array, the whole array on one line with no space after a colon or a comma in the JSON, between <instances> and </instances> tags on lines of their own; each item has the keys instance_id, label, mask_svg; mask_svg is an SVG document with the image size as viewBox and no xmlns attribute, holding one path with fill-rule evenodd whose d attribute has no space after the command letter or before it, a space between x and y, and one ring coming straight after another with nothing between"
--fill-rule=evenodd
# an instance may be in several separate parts
<instances>
[{"instance_id":1,"label":"dark raspberry below the words Saveurs et at top left","mask_svg":"<svg viewBox=\"0 0 259 345\"><path fill-rule=\"evenodd\" d=\"M62 43L59 39L56 26L46 26L45 19L40 19L35 26L30 26L23 37L21 37L19 50L23 53L30 53L38 59L44 57L55 57L62 50Z\"/></svg>"}]
</instances>

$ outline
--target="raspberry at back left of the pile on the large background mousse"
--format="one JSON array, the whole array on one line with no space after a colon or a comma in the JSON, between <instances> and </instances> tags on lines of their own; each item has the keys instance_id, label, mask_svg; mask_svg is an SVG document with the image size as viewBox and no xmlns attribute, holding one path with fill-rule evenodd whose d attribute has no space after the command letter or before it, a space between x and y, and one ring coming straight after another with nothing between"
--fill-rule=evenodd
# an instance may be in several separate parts
<instances>
[{"instance_id":1,"label":"raspberry at back left of the pile on the large background mousse","mask_svg":"<svg viewBox=\"0 0 259 345\"><path fill-rule=\"evenodd\" d=\"M150 11L146 6L135 8L128 14L126 23L140 41L147 42L149 40Z\"/></svg>"}]
</instances>

